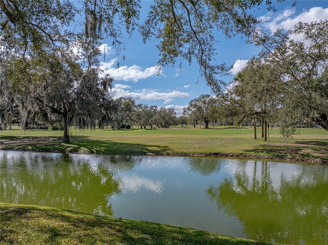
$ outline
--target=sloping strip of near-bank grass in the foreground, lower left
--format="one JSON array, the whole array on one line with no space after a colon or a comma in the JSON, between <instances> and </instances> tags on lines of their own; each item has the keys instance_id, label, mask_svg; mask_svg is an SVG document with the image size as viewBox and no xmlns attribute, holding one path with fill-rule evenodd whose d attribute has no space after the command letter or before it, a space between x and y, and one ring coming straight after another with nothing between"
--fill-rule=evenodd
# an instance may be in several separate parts
<instances>
[{"instance_id":1,"label":"sloping strip of near-bank grass in the foreground, lower left","mask_svg":"<svg viewBox=\"0 0 328 245\"><path fill-rule=\"evenodd\" d=\"M155 222L0 203L2 244L274 244Z\"/></svg>"}]
</instances>

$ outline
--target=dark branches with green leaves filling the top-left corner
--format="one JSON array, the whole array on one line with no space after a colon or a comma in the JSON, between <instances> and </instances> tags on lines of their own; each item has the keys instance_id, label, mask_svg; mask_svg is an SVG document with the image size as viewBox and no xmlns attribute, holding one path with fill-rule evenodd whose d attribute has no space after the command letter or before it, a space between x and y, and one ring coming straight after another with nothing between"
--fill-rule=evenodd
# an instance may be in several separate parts
<instances>
[{"instance_id":1,"label":"dark branches with green leaves filling the top-left corner","mask_svg":"<svg viewBox=\"0 0 328 245\"><path fill-rule=\"evenodd\" d=\"M74 36L68 26L77 9L71 1L1 1L0 45L23 57L68 44Z\"/></svg>"}]
</instances>

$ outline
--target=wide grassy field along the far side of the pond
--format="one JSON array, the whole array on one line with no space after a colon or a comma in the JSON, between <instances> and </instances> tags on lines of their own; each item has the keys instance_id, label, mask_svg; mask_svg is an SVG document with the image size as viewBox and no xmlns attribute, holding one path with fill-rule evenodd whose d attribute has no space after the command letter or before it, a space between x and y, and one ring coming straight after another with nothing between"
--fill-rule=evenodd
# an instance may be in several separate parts
<instances>
[{"instance_id":1,"label":"wide grassy field along the far side of the pond","mask_svg":"<svg viewBox=\"0 0 328 245\"><path fill-rule=\"evenodd\" d=\"M278 129L269 131L264 142L258 130L216 127L172 127L169 129L76 130L70 144L61 142L63 131L26 130L18 127L1 131L1 149L58 151L96 154L221 155L328 163L328 132L320 128L301 129L294 139L283 141Z\"/></svg>"}]
</instances>

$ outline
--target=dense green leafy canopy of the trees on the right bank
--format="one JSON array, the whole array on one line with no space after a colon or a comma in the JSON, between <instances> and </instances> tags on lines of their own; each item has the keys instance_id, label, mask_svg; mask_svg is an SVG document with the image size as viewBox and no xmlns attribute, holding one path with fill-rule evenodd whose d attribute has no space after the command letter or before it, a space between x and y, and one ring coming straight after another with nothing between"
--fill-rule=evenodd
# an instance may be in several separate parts
<instances>
[{"instance_id":1,"label":"dense green leafy canopy of the trees on the right bank","mask_svg":"<svg viewBox=\"0 0 328 245\"><path fill-rule=\"evenodd\" d=\"M231 85L230 116L261 117L280 126L284 138L311 123L328 130L327 34L328 21L320 21L258 37L262 52Z\"/></svg>"}]
</instances>

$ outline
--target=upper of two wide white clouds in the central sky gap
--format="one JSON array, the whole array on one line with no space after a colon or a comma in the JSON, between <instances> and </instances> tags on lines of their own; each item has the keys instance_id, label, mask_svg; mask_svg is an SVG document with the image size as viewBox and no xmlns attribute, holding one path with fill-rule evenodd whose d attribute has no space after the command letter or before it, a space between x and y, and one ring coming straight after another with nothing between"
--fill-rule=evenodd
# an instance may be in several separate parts
<instances>
[{"instance_id":1,"label":"upper of two wide white clouds in the central sky gap","mask_svg":"<svg viewBox=\"0 0 328 245\"><path fill-rule=\"evenodd\" d=\"M105 74L110 74L117 81L137 82L140 79L157 76L160 68L158 65L145 68L144 70L139 65L119 66L117 65L117 60L112 59L109 62L101 62L100 69L103 70ZM165 77L162 72L160 72L160 75Z\"/></svg>"}]
</instances>

